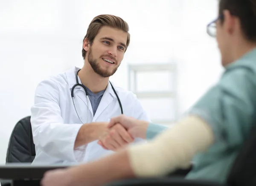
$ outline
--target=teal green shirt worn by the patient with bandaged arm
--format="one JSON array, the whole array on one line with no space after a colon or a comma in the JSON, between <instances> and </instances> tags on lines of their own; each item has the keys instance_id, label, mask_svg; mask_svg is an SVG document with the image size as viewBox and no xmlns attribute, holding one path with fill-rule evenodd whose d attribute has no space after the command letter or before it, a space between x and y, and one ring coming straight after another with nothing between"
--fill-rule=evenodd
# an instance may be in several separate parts
<instances>
[{"instance_id":1,"label":"teal green shirt worn by the patient with bandaged arm","mask_svg":"<svg viewBox=\"0 0 256 186\"><path fill-rule=\"evenodd\" d=\"M220 81L189 111L210 124L215 141L207 152L195 156L187 179L226 182L230 167L256 122L255 93L256 49L228 65ZM163 131L154 124L149 127L148 138L153 137L150 131L154 129Z\"/></svg>"}]
</instances>

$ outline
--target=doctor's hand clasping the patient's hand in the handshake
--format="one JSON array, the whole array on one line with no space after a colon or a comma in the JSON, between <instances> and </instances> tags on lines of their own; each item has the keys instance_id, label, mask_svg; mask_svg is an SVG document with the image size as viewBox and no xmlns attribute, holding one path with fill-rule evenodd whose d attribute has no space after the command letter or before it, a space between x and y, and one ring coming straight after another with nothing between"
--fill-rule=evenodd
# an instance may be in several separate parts
<instances>
[{"instance_id":1,"label":"doctor's hand clasping the patient's hand in the handshake","mask_svg":"<svg viewBox=\"0 0 256 186\"><path fill-rule=\"evenodd\" d=\"M108 132L99 137L98 144L104 149L119 150L133 142L134 138L120 124L115 124Z\"/></svg>"}]
</instances>

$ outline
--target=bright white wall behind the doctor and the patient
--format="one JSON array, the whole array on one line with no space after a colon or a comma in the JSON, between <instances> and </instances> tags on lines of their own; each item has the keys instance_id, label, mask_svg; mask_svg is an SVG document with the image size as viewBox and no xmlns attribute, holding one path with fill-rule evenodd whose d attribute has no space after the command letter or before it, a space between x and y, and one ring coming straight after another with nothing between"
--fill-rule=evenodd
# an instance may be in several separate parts
<instances>
[{"instance_id":1,"label":"bright white wall behind the doctor and the patient","mask_svg":"<svg viewBox=\"0 0 256 186\"><path fill-rule=\"evenodd\" d=\"M83 65L82 39L98 14L115 14L130 25L131 45L111 77L116 84L128 88L129 63L175 61L180 116L218 80L220 56L206 34L217 15L216 0L1 1L0 163L15 123L30 115L38 82Z\"/></svg>"}]
</instances>

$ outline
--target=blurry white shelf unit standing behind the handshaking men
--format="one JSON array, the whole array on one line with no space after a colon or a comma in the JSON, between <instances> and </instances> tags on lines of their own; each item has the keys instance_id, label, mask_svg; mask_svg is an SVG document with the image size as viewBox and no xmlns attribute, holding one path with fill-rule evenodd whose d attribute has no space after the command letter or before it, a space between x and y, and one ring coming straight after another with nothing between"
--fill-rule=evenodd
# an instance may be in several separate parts
<instances>
[{"instance_id":1,"label":"blurry white shelf unit standing behind the handshaking men","mask_svg":"<svg viewBox=\"0 0 256 186\"><path fill-rule=\"evenodd\" d=\"M176 64L129 65L128 70L129 90L141 101L152 122L173 124L177 119Z\"/></svg>"}]
</instances>

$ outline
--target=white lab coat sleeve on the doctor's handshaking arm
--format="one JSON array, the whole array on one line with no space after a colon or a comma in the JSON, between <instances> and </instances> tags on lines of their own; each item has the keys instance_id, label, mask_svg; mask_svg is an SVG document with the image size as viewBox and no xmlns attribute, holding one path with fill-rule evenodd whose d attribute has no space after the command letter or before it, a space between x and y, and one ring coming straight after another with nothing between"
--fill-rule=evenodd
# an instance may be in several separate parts
<instances>
[{"instance_id":1,"label":"white lab coat sleeve on the doctor's handshaking arm","mask_svg":"<svg viewBox=\"0 0 256 186\"><path fill-rule=\"evenodd\" d=\"M35 91L31 108L31 126L36 148L64 161L77 162L76 136L82 124L65 124L59 106L60 92L53 79L42 81Z\"/></svg>"}]
</instances>

